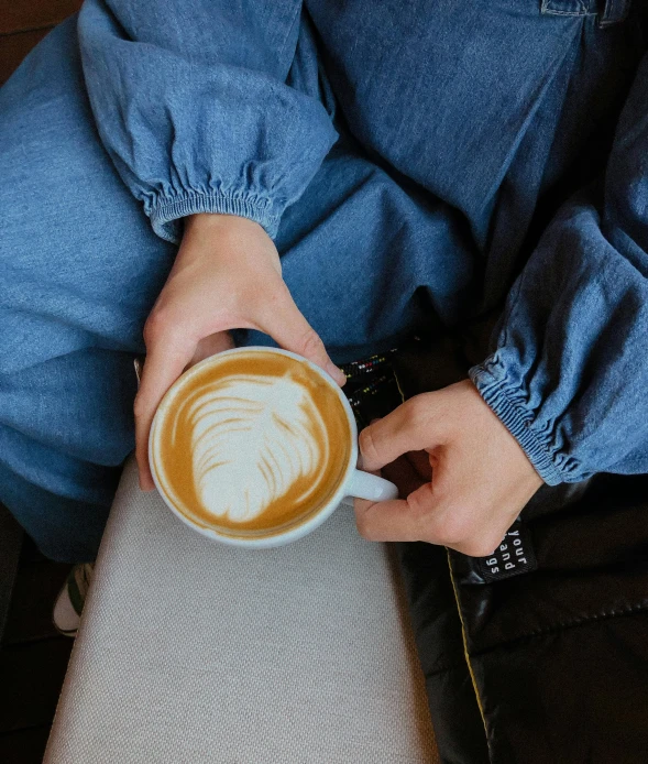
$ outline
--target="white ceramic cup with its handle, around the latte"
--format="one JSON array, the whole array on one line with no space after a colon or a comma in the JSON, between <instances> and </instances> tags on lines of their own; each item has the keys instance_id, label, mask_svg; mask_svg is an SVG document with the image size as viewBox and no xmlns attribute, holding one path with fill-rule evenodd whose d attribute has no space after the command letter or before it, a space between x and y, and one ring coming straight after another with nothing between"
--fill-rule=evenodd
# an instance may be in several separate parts
<instances>
[{"instance_id":1,"label":"white ceramic cup with its handle, around the latte","mask_svg":"<svg viewBox=\"0 0 648 764\"><path fill-rule=\"evenodd\" d=\"M173 402L175 400L176 393L182 390L184 386L184 383L188 382L194 374L196 374L198 371L202 370L206 365L213 363L216 364L219 359L223 358L224 356L233 356L235 353L250 353L250 352L263 352L263 353L277 353L279 356L287 356L288 358L294 358L297 361L300 361L301 363L306 364L312 372L315 372L320 379L322 379L331 390L334 391L336 395L338 396L340 403L342 404L342 407L344 410L344 413L347 415L347 419L349 422L349 437L351 438L351 444L349 448L349 459L348 463L344 467L344 476L342 480L340 481L340 487L336 491L336 493L331 496L330 501L325 504L323 506L320 507L320 510L315 513L312 516L310 516L308 520L305 522L300 523L299 525L296 525L294 527L287 528L286 531L282 531L279 533L272 533L268 534L267 536L255 536L251 538L242 538L238 536L230 536L224 533L219 533L215 528L209 528L209 527L204 527L201 525L198 525L197 523L194 523L190 517L187 517L185 514L183 514L166 496L166 493L161 484L161 481L157 478L157 474L155 472L155 462L156 459L154 458L155 454L157 452L157 441L161 435L161 432L163 429L162 427L162 422L164 418L164 415L168 407L173 405ZM189 527L194 528L194 531L197 531L198 533L202 534L204 536L207 536L208 538L211 538L216 542L221 542L222 544L229 544L232 546L243 546L243 547L250 547L250 548L256 548L256 549L262 549L262 548L268 548L273 546L282 546L284 544L288 544L289 542L295 542L298 538L301 538L303 536L306 536L308 533L311 531L315 531L319 525L321 525L327 517L329 517L333 511L340 505L341 501L345 496L356 496L359 499L370 499L371 501L385 501L388 499L396 499L398 495L398 489L394 483L391 483L388 480L385 480L384 478L378 478L375 474L370 474L369 472L363 472L359 469L356 469L356 463L358 463L358 427L355 425L355 417L353 416L353 412L351 410L351 406L349 405L349 401L347 400L347 396L342 392L342 390L336 384L336 382L332 380L329 374L326 373L326 371L322 371L319 367L317 367L315 363L311 363L310 361L306 360L305 358L301 358L301 356L297 356L294 352L289 352L288 350L279 350L278 348L265 348L265 347L249 347L249 348L234 348L233 350L224 350L223 352L218 353L217 356L212 356L211 358L207 358L204 361L200 361L200 363L197 363L195 367L191 367L189 371L185 372L169 389L169 391L166 393L164 399L162 400L157 412L155 413L155 417L153 419L153 425L151 427L151 435L149 438L149 462L151 465L151 472L153 474L153 481L155 482L155 485L157 488L157 491L160 492L160 495L164 500L164 503L171 509L171 511L176 514L184 523L186 523Z\"/></svg>"}]
</instances>

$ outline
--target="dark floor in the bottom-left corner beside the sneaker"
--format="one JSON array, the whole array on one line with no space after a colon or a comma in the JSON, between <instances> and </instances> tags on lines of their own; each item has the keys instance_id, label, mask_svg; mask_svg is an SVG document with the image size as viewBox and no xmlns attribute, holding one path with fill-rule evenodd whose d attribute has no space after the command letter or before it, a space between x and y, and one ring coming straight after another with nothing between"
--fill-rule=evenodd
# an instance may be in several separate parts
<instances>
[{"instance_id":1,"label":"dark floor in the bottom-left corner beside the sneaker","mask_svg":"<svg viewBox=\"0 0 648 764\"><path fill-rule=\"evenodd\" d=\"M45 559L10 523L7 515L0 520L0 598L14 578L0 641L0 762L40 764L73 646L52 625L69 566ZM0 633L2 620L0 601Z\"/></svg>"}]
</instances>

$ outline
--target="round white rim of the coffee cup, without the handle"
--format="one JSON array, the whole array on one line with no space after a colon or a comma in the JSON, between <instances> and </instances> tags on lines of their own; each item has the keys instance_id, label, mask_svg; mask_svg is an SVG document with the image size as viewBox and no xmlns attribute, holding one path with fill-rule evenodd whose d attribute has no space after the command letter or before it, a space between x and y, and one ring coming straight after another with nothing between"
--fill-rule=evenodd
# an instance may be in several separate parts
<instances>
[{"instance_id":1,"label":"round white rim of the coffee cup, without the handle","mask_svg":"<svg viewBox=\"0 0 648 764\"><path fill-rule=\"evenodd\" d=\"M241 538L237 536L229 536L227 534L221 534L215 528L210 527L205 527L201 525L198 525L197 523L194 523L189 517L187 517L183 512L180 512L174 504L173 502L166 496L165 491L162 488L161 481L158 480L158 477L155 471L155 462L153 460L153 450L155 448L155 434L157 429L161 426L161 422L164 417L165 413L165 402L168 402L177 392L178 388L182 385L186 384L191 376L197 374L201 369L204 369L207 365L210 365L211 363L216 363L218 360L226 356L232 356L232 354L241 354L244 352L264 352L264 353L275 353L279 356L285 356L287 358L292 358L296 361L300 361L301 363L305 363L311 371L316 372L325 382L328 383L330 388L332 388L338 395L338 399L340 403L342 404L342 408L344 410L344 413L347 415L347 421L349 424L349 429L350 429L350 436L351 436L351 449L350 449L350 456L349 456L349 462L344 469L344 473L342 476L342 479L340 480L340 485L338 487L338 490L333 493L333 495L330 498L330 500L317 512L314 514L311 517L309 517L307 521L304 523L300 523L296 527L288 528L287 531L275 533L271 536L264 536L264 537L259 537L259 538ZM358 425L355 423L355 417L353 415L353 410L351 408L351 404L349 403L347 396L342 392L342 389L338 385L338 383L333 380L333 378L326 372L323 369L318 367L316 363L312 361L308 360L307 358L304 358L303 356L299 356L298 353L295 353L290 350L284 350L283 348L272 348L272 347L264 347L262 345L253 345L249 347L239 347L239 348L231 348L230 350L222 350L213 356L210 356L209 358L204 359L202 361L199 361L195 365L193 365L188 371L186 371L184 374L182 374L173 384L172 386L166 391L164 394L162 401L160 402L157 410L155 412L155 415L153 417L153 422L151 423L151 432L149 434L149 448L147 448L147 456L149 456L149 465L151 468L151 474L153 476L153 482L155 483L155 488L157 490L157 493L164 501L164 503L168 506L168 509L176 515L176 517L179 517L186 525L188 525L190 528L194 531L197 531L200 535L206 536L207 538L211 538L212 541L219 542L220 544L227 544L229 546L239 546L239 547L246 547L246 548L256 548L256 549L267 549L276 546L283 546L284 544L288 544L290 542L297 541L298 538L301 538L312 531L315 531L317 527L319 527L330 515L334 512L334 510L340 505L342 499L348 495L347 488L349 485L349 480L353 472L355 471L356 468L356 462L358 462Z\"/></svg>"}]
</instances>

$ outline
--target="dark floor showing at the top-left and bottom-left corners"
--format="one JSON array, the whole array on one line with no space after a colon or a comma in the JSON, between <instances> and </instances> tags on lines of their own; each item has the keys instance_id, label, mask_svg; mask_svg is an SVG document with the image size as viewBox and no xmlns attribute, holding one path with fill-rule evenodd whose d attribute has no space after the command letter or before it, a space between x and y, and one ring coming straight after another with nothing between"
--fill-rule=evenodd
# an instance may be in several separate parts
<instances>
[{"instance_id":1,"label":"dark floor showing at the top-left and bottom-left corners","mask_svg":"<svg viewBox=\"0 0 648 764\"><path fill-rule=\"evenodd\" d=\"M80 0L0 2L0 85L79 6ZM0 506L0 764L43 761L73 645L51 622L68 568L40 555Z\"/></svg>"}]
</instances>

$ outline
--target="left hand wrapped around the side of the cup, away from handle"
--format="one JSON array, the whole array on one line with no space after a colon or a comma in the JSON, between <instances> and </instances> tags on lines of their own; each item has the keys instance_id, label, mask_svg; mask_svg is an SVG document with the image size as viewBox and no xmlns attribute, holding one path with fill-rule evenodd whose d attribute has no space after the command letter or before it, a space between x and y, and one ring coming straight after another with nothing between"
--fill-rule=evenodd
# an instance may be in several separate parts
<instances>
[{"instance_id":1,"label":"left hand wrapped around the side of the cup, away from handle","mask_svg":"<svg viewBox=\"0 0 648 764\"><path fill-rule=\"evenodd\" d=\"M146 360L134 405L143 490L154 488L147 446L160 401L187 367L233 347L228 330L234 328L260 329L340 385L345 381L290 297L264 229L235 215L187 218L174 266L144 326Z\"/></svg>"}]
</instances>

